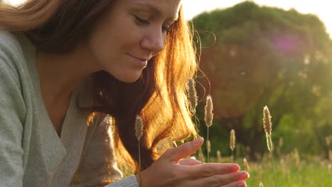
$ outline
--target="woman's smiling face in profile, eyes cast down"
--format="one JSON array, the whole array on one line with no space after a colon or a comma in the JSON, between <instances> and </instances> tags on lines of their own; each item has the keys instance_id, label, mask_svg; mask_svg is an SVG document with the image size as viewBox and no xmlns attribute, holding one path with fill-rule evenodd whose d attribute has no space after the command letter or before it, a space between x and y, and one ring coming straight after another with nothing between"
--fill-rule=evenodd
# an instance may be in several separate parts
<instances>
[{"instance_id":1,"label":"woman's smiling face in profile, eyes cast down","mask_svg":"<svg viewBox=\"0 0 332 187\"><path fill-rule=\"evenodd\" d=\"M114 0L88 40L96 66L120 81L136 81L164 47L180 4L181 0Z\"/></svg>"}]
</instances>

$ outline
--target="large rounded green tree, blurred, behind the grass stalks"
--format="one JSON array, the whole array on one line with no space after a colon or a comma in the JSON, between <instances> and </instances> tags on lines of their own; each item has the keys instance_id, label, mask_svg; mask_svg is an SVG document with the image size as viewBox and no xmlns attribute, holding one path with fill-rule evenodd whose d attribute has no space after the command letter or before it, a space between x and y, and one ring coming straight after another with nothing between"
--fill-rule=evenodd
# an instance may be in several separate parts
<instances>
[{"instance_id":1,"label":"large rounded green tree, blurred, behind the grass stalks","mask_svg":"<svg viewBox=\"0 0 332 187\"><path fill-rule=\"evenodd\" d=\"M272 129L283 126L276 135L297 131L309 140L301 148L318 152L332 132L332 41L319 18L245 1L202 13L192 24L201 38L200 67L211 83L220 127L235 129L255 159L265 145L262 108L267 105Z\"/></svg>"}]
</instances>

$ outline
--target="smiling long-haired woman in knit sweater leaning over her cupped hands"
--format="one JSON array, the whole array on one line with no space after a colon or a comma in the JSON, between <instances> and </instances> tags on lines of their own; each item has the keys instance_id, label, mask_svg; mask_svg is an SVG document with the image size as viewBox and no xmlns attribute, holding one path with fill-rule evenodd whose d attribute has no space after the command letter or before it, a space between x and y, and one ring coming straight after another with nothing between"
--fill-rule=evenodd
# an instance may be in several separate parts
<instances>
[{"instance_id":1,"label":"smiling long-haired woman in knit sweater leaning over her cupped hands","mask_svg":"<svg viewBox=\"0 0 332 187\"><path fill-rule=\"evenodd\" d=\"M137 115L143 186L245 186L236 164L183 159L201 138L161 155L196 136L180 0L30 0L0 28L0 186L138 186Z\"/></svg>"}]
</instances>

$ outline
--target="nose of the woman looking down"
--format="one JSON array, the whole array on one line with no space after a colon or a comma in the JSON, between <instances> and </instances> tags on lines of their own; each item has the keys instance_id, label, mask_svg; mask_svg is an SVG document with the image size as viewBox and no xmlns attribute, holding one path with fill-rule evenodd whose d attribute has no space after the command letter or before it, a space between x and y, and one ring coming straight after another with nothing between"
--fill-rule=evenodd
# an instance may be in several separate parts
<instances>
[{"instance_id":1,"label":"nose of the woman looking down","mask_svg":"<svg viewBox=\"0 0 332 187\"><path fill-rule=\"evenodd\" d=\"M160 29L151 29L146 32L140 45L145 50L150 50L153 55L156 55L164 48L166 34Z\"/></svg>"}]
</instances>

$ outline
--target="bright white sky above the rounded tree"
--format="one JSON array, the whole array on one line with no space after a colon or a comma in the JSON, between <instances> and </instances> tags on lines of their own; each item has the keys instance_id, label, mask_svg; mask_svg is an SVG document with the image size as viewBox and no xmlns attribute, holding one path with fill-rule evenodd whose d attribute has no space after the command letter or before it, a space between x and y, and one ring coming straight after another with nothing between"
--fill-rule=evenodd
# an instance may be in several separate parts
<instances>
[{"instance_id":1,"label":"bright white sky above the rounded tree","mask_svg":"<svg viewBox=\"0 0 332 187\"><path fill-rule=\"evenodd\" d=\"M13 5L21 4L25 0L4 0ZM157 1L157 0L156 0ZM228 8L243 0L182 0L184 16L187 20L204 11L211 11L216 8ZM332 8L330 0L254 0L261 6L275 6L289 10L294 8L300 13L312 13L321 19L332 38Z\"/></svg>"}]
</instances>

